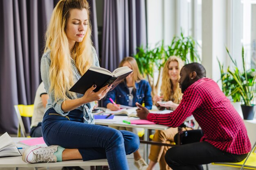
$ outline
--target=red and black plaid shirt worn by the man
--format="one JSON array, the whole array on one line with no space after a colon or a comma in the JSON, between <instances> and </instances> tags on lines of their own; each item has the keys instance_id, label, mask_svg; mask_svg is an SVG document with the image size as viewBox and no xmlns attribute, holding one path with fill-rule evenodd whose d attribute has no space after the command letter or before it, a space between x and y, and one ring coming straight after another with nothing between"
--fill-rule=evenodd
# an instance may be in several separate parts
<instances>
[{"instance_id":1,"label":"red and black plaid shirt worn by the man","mask_svg":"<svg viewBox=\"0 0 256 170\"><path fill-rule=\"evenodd\" d=\"M204 132L201 142L209 142L220 150L238 155L251 150L242 118L218 84L209 78L201 78L190 85L180 105L172 113L149 113L147 119L157 124L177 127L191 115Z\"/></svg>"}]
</instances>

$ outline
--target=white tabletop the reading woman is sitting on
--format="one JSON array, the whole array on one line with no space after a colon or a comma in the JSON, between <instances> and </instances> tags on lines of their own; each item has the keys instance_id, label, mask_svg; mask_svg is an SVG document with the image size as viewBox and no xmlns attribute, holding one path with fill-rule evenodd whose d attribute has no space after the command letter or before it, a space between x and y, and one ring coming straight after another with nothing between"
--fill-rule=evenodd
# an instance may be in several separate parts
<instances>
[{"instance_id":1,"label":"white tabletop the reading woman is sitting on","mask_svg":"<svg viewBox=\"0 0 256 170\"><path fill-rule=\"evenodd\" d=\"M27 139L26 137L12 137L13 142L17 147L29 147L24 144L18 143L20 140ZM25 149L20 149L23 153ZM98 159L92 161L71 160L50 163L25 163L22 161L21 156L17 157L0 157L0 167L62 167L62 166L103 166L108 165L107 159Z\"/></svg>"}]
</instances>

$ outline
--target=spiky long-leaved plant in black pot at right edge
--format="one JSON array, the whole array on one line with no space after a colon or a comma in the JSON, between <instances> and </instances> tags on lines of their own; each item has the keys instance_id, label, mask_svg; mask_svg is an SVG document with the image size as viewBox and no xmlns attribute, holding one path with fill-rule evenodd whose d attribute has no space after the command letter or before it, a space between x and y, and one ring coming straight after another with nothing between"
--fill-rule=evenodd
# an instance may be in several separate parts
<instances>
[{"instance_id":1,"label":"spiky long-leaved plant in black pot at right edge","mask_svg":"<svg viewBox=\"0 0 256 170\"><path fill-rule=\"evenodd\" d=\"M236 61L231 57L229 50L227 53L234 64L234 70L227 68L227 72L234 78L236 85L235 88L231 91L231 96L237 92L241 95L242 105L241 109L245 120L252 120L254 118L254 112L256 109L254 98L256 94L256 84L255 78L256 75L253 75L255 72L254 69L245 69L245 58L244 58L244 48L242 48L242 61L243 61L243 72L240 72L238 69Z\"/></svg>"}]
</instances>

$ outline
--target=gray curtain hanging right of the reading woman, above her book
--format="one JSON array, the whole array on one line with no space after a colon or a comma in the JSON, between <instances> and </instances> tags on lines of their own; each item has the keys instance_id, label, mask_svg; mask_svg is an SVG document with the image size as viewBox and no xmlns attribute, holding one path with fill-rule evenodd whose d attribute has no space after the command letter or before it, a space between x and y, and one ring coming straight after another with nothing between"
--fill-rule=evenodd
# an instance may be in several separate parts
<instances>
[{"instance_id":1,"label":"gray curtain hanging right of the reading woman, above her book","mask_svg":"<svg viewBox=\"0 0 256 170\"><path fill-rule=\"evenodd\" d=\"M101 67L113 71L120 61L146 46L145 0L105 0Z\"/></svg>"}]
</instances>

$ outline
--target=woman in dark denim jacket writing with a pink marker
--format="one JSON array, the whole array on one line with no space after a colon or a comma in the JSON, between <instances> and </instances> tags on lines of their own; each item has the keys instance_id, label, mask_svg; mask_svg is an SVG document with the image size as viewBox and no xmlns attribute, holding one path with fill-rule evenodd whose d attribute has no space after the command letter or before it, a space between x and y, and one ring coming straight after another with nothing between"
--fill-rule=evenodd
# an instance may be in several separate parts
<instances>
[{"instance_id":1,"label":"woman in dark denim jacket writing with a pink marker","mask_svg":"<svg viewBox=\"0 0 256 170\"><path fill-rule=\"evenodd\" d=\"M124 82L120 83L113 89L108 92L106 97L103 99L103 107L111 109L112 111L117 111L120 109L120 105L126 105L131 107L136 107L135 103L138 102L142 105L145 104L147 109L152 108L152 98L151 98L151 87L149 83L144 80L139 73L139 68L136 60L133 57L125 57L119 67L128 66L133 72L127 76ZM116 101L117 105L113 104L109 98ZM122 127L118 126L110 126L115 129L122 129ZM132 131L137 134L137 130L135 128L125 128L128 131ZM139 154L137 150L133 153L135 159L135 166L141 170L142 167L146 167L148 164L144 161L144 159Z\"/></svg>"}]
</instances>

